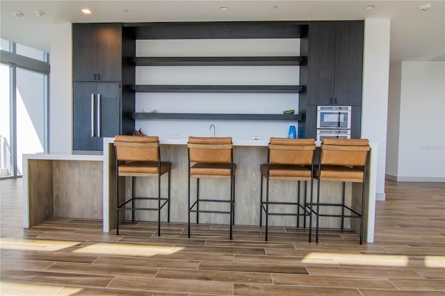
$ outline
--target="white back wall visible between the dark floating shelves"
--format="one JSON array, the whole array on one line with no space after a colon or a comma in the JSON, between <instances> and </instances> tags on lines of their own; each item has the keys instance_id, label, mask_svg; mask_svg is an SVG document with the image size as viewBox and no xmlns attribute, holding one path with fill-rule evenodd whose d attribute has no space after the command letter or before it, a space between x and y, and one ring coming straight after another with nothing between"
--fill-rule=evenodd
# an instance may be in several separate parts
<instances>
[{"instance_id":1,"label":"white back wall visible between the dark floating shelves","mask_svg":"<svg viewBox=\"0 0 445 296\"><path fill-rule=\"evenodd\" d=\"M299 39L138 40L136 56L299 56ZM298 66L136 67L137 84L160 85L298 85ZM298 94L277 93L136 93L136 112L259 113L298 112ZM217 136L235 140L286 137L298 122L228 120L136 120L136 128L160 138Z\"/></svg>"}]
</instances>

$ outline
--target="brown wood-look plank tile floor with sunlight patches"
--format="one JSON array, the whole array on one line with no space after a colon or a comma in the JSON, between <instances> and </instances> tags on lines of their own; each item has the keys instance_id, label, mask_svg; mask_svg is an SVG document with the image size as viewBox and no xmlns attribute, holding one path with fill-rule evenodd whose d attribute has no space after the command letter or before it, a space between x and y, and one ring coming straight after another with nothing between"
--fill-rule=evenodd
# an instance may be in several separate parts
<instances>
[{"instance_id":1,"label":"brown wood-look plank tile floor with sunlight patches","mask_svg":"<svg viewBox=\"0 0 445 296\"><path fill-rule=\"evenodd\" d=\"M445 295L445 184L387 181L375 243L355 233L54 218L22 229L22 180L1 186L1 295Z\"/></svg>"}]
</instances>

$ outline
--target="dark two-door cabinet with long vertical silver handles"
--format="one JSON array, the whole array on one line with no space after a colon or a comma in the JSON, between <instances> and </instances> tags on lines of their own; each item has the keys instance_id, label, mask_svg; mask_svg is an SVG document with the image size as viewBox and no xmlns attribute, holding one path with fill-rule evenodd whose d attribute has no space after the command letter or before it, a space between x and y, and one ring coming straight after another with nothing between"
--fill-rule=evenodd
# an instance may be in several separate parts
<instances>
[{"instance_id":1,"label":"dark two-door cabinet with long vertical silver handles","mask_svg":"<svg viewBox=\"0 0 445 296\"><path fill-rule=\"evenodd\" d=\"M73 97L73 149L102 150L121 131L121 83L74 82Z\"/></svg>"}]
</instances>

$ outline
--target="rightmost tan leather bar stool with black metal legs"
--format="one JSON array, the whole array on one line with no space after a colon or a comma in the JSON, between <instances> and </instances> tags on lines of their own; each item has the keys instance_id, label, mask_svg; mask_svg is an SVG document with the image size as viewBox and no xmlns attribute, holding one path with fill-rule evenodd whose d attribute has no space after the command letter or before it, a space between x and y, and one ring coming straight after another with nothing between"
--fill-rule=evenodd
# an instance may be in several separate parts
<instances>
[{"instance_id":1,"label":"rightmost tan leather bar stool with black metal legs","mask_svg":"<svg viewBox=\"0 0 445 296\"><path fill-rule=\"evenodd\" d=\"M363 216L366 188L366 163L369 155L369 140L366 139L337 139L323 138L321 144L318 167L315 168L314 178L318 180L317 202L316 202L316 242L318 243L318 220L319 217L341 217L341 229L344 228L344 218L360 220L360 245L363 241ZM333 202L320 202L321 181L335 181L343 183L343 194L341 204ZM362 204L360 210L354 210L352 204L345 204L346 182L362 183ZM341 213L321 213L320 208L324 206L340 207ZM345 211L347 213L345 213Z\"/></svg>"}]
</instances>

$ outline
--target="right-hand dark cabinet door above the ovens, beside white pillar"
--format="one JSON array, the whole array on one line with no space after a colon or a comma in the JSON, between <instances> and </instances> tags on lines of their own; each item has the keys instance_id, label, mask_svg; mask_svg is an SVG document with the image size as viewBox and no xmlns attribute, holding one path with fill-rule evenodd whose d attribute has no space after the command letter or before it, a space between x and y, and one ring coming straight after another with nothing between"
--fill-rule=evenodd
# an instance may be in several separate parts
<instances>
[{"instance_id":1,"label":"right-hand dark cabinet door above the ovens, beside white pillar","mask_svg":"<svg viewBox=\"0 0 445 296\"><path fill-rule=\"evenodd\" d=\"M337 22L335 93L337 105L362 105L363 22Z\"/></svg>"}]
</instances>

